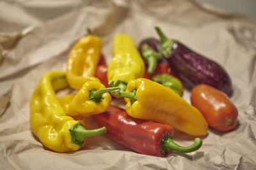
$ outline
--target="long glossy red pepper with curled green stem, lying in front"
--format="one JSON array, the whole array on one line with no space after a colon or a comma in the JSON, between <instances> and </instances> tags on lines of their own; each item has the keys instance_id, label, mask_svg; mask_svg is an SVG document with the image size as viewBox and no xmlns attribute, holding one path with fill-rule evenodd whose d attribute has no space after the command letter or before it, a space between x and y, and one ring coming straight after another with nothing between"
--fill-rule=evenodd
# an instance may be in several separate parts
<instances>
[{"instance_id":1,"label":"long glossy red pepper with curled green stem, lying in front","mask_svg":"<svg viewBox=\"0 0 256 170\"><path fill-rule=\"evenodd\" d=\"M115 106L110 105L105 113L93 117L97 124L108 129L109 138L145 155L165 157L170 150L188 153L202 145L202 140L196 138L191 146L179 146L172 140L173 127L170 125L132 118Z\"/></svg>"}]
</instances>

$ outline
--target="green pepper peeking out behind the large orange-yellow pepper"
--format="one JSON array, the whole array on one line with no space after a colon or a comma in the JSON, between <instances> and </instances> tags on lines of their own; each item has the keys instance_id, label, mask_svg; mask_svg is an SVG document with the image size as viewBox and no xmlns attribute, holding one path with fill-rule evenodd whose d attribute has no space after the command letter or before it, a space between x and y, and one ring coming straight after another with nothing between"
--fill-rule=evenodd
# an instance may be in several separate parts
<instances>
[{"instance_id":1,"label":"green pepper peeking out behind the large orange-yellow pepper","mask_svg":"<svg viewBox=\"0 0 256 170\"><path fill-rule=\"evenodd\" d=\"M175 78L175 76L170 74L157 74L156 76L153 76L152 80L169 87L179 94L179 96L183 95L183 85L178 78Z\"/></svg>"}]
</instances>

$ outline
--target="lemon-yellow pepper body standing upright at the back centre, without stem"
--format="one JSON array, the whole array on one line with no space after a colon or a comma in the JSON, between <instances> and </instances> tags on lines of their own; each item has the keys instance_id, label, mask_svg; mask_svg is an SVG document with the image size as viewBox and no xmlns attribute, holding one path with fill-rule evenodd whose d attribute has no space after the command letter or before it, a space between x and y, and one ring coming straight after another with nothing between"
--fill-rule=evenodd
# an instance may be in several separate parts
<instances>
[{"instance_id":1,"label":"lemon-yellow pepper body standing upright at the back centre, without stem","mask_svg":"<svg viewBox=\"0 0 256 170\"><path fill-rule=\"evenodd\" d=\"M130 80L143 77L145 65L136 45L128 34L116 34L113 43L113 59L108 66L108 81L113 84L119 81L128 83ZM122 88L125 90L126 87Z\"/></svg>"}]
</instances>

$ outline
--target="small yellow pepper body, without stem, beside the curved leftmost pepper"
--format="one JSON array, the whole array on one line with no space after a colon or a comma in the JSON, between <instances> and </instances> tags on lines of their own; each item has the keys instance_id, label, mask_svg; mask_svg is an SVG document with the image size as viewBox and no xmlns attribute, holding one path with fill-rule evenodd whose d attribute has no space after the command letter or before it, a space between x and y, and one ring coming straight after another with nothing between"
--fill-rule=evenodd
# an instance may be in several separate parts
<instances>
[{"instance_id":1,"label":"small yellow pepper body, without stem, beside the curved leftmost pepper","mask_svg":"<svg viewBox=\"0 0 256 170\"><path fill-rule=\"evenodd\" d=\"M111 96L108 92L100 95L99 101L93 101L90 99L91 90L104 89L105 86L99 81L87 81L83 87L77 92L77 94L70 94L59 98L61 106L63 107L66 115L70 117L83 116L88 117L103 113L108 109L111 103ZM113 89L113 88L107 88ZM117 88L114 88L114 90Z\"/></svg>"}]
</instances>

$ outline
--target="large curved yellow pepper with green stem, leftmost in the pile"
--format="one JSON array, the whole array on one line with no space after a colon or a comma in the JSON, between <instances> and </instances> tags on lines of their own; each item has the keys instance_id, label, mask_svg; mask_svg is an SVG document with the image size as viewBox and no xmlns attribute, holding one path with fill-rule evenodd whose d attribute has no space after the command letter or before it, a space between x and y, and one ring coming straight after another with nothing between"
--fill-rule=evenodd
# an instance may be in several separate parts
<instances>
[{"instance_id":1,"label":"large curved yellow pepper with green stem, leftmost in the pile","mask_svg":"<svg viewBox=\"0 0 256 170\"><path fill-rule=\"evenodd\" d=\"M65 115L54 91L68 87L66 73L44 74L31 97L31 129L42 144L55 152L79 150L88 136L106 132L106 127L86 130L79 121Z\"/></svg>"}]
</instances>

